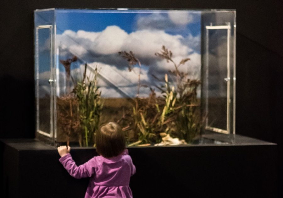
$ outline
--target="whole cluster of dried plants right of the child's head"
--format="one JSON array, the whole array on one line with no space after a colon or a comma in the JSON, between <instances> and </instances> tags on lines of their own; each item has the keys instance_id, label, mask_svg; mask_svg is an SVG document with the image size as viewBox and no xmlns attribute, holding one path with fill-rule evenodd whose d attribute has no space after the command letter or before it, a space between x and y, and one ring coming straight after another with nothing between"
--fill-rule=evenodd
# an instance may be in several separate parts
<instances>
[{"instance_id":1,"label":"whole cluster of dried plants right of the child's head","mask_svg":"<svg viewBox=\"0 0 283 198\"><path fill-rule=\"evenodd\" d=\"M129 71L137 63L141 65L133 52L122 51L119 54L129 62ZM139 98L137 94L132 121L125 128L136 131L138 137L129 146L160 142L160 133L191 143L201 129L200 101L197 99L197 87L201 82L188 79L188 74L179 70L190 58L184 58L177 64L172 58L173 53L165 46L155 55L165 59L167 63L173 63L174 70L169 72L175 76L176 87L171 85L168 75L165 74L164 85L157 86L163 98L156 97L152 88L148 98Z\"/></svg>"}]
</instances>

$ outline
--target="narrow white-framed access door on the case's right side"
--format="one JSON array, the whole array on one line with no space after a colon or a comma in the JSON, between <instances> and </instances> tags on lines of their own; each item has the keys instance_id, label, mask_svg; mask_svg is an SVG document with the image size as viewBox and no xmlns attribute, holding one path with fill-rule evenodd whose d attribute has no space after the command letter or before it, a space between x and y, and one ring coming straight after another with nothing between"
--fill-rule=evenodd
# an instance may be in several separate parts
<instances>
[{"instance_id":1,"label":"narrow white-framed access door on the case's right side","mask_svg":"<svg viewBox=\"0 0 283 198\"><path fill-rule=\"evenodd\" d=\"M230 25L208 25L207 31L207 67L208 67L208 102L206 129L229 133L229 99L227 91L230 87ZM229 74L228 74L229 73ZM230 92L230 91L229 91Z\"/></svg>"}]
</instances>

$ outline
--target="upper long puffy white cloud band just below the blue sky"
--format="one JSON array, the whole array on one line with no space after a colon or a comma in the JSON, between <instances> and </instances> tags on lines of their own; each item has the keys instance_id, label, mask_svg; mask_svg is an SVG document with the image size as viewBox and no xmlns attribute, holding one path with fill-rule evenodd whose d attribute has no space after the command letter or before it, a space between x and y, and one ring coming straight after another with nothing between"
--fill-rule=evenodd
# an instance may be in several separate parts
<instances>
[{"instance_id":1,"label":"upper long puffy white cloud band just below the blue sky","mask_svg":"<svg viewBox=\"0 0 283 198\"><path fill-rule=\"evenodd\" d=\"M115 54L121 50L133 51L142 58L153 58L163 45L174 51L175 55L186 55L192 49L182 44L180 35L170 35L163 30L140 30L127 34L118 26L109 26L101 33L66 30L58 35L60 55L67 52L78 57L87 53L101 55ZM64 53L65 52L65 53Z\"/></svg>"}]
</instances>

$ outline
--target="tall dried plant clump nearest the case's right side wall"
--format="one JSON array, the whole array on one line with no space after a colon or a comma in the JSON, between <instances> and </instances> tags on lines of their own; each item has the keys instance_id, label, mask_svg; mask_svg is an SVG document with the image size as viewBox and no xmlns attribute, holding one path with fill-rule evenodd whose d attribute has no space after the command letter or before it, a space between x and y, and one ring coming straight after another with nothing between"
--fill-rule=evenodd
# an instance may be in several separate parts
<instances>
[{"instance_id":1,"label":"tall dried plant clump nearest the case's right side wall","mask_svg":"<svg viewBox=\"0 0 283 198\"><path fill-rule=\"evenodd\" d=\"M191 143L193 138L200 133L202 124L200 101L197 100L197 87L201 81L188 79L188 74L179 71L180 65L184 65L190 60L189 58L182 59L179 64L176 64L172 59L173 53L165 46L162 46L161 53L155 53L155 55L166 59L167 63L174 64L175 71L170 72L176 76L177 81L177 89L174 90L174 86L169 85L167 75L165 75L165 87L159 88L165 93L166 101L160 122L169 123L167 129L170 131L166 132L169 132L170 135Z\"/></svg>"}]
</instances>

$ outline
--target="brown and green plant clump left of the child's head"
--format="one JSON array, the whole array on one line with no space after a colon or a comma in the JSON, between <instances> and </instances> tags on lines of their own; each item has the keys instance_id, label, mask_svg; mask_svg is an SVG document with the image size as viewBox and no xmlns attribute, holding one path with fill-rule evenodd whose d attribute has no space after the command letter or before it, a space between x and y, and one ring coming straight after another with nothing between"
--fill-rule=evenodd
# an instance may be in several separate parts
<instances>
[{"instance_id":1,"label":"brown and green plant clump left of the child's head","mask_svg":"<svg viewBox=\"0 0 283 198\"><path fill-rule=\"evenodd\" d=\"M67 145L70 137L75 136L80 146L94 145L94 135L100 120L102 103L98 87L98 71L93 78L86 76L85 64L83 78L75 81L70 75L70 64L76 61L73 57L61 63L66 66L66 75L71 77L74 89L67 95L57 97L57 124L61 133L67 135ZM73 93L74 95L71 95Z\"/></svg>"}]
</instances>

